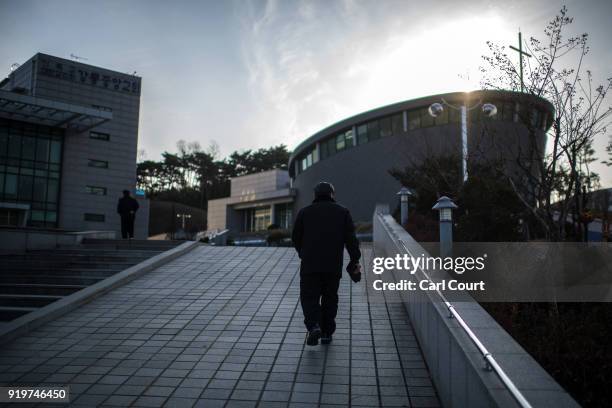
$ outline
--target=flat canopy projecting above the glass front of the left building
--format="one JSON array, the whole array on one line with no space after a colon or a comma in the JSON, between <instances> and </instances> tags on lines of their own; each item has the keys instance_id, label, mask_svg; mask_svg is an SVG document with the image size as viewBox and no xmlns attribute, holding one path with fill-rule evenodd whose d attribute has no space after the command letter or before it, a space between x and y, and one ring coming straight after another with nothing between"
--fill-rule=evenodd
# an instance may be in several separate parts
<instances>
[{"instance_id":1,"label":"flat canopy projecting above the glass front of the left building","mask_svg":"<svg viewBox=\"0 0 612 408\"><path fill-rule=\"evenodd\" d=\"M113 113L93 107L0 90L0 117L85 132L113 119Z\"/></svg>"}]
</instances>

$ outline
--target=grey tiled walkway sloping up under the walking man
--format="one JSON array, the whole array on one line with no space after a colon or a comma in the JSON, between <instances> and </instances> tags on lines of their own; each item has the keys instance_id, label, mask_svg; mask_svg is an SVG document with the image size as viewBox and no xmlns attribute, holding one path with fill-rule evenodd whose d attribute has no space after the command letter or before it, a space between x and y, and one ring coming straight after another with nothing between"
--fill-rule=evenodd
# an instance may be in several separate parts
<instances>
[{"instance_id":1,"label":"grey tiled walkway sloping up under the walking man","mask_svg":"<svg viewBox=\"0 0 612 408\"><path fill-rule=\"evenodd\" d=\"M68 384L83 407L437 406L403 306L363 281L341 281L333 343L304 345L298 266L198 247L4 345L0 384Z\"/></svg>"}]
</instances>

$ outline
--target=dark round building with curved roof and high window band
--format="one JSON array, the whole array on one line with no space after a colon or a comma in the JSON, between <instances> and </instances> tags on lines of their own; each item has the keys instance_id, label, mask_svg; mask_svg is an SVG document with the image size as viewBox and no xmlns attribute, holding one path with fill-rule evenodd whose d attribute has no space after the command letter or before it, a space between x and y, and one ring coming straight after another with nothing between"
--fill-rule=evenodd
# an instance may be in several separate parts
<instances>
[{"instance_id":1,"label":"dark round building with curved roof and high window band","mask_svg":"<svg viewBox=\"0 0 612 408\"><path fill-rule=\"evenodd\" d=\"M436 117L429 107L441 103ZM481 109L493 104L497 113ZM499 159L513 166L541 160L553 107L545 99L509 91L432 95L364 112L335 123L300 143L289 159L294 209L308 205L319 181L331 182L337 201L355 221L370 221L376 204L393 210L400 183L390 175L426 157L462 155L460 106L468 107L467 160ZM469 109L472 108L472 109ZM534 166L534 168L537 166Z\"/></svg>"}]
</instances>

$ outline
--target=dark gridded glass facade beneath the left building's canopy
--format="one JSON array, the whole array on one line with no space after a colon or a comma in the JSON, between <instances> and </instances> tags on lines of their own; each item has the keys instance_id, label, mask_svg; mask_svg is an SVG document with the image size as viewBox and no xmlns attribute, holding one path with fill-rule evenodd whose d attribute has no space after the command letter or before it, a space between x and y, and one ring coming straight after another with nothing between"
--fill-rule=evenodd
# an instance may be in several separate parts
<instances>
[{"instance_id":1,"label":"dark gridded glass facade beneath the left building's canopy","mask_svg":"<svg viewBox=\"0 0 612 408\"><path fill-rule=\"evenodd\" d=\"M13 203L29 206L28 226L57 227L62 144L62 129L0 119L0 223Z\"/></svg>"}]
</instances>

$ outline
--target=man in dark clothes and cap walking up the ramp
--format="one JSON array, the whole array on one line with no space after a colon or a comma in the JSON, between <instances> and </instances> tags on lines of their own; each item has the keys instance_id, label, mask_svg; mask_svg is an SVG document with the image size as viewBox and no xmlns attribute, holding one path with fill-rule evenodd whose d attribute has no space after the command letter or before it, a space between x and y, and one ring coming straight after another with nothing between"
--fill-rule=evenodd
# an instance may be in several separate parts
<instances>
[{"instance_id":1,"label":"man in dark clothes and cap walking up the ramp","mask_svg":"<svg viewBox=\"0 0 612 408\"><path fill-rule=\"evenodd\" d=\"M332 341L338 312L338 287L342 277L344 247L350 256L346 268L354 282L361 280L359 241L349 211L336 203L334 187L320 182L311 205L298 213L293 244L301 259L300 303L308 330L306 344Z\"/></svg>"}]
</instances>

